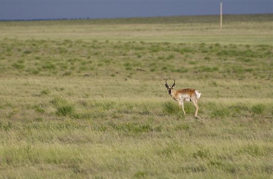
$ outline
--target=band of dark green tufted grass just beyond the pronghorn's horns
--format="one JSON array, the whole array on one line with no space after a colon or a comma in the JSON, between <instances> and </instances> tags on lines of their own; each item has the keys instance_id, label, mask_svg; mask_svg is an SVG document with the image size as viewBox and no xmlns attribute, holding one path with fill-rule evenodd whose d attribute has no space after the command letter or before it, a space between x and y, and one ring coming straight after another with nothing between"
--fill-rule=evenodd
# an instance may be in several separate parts
<instances>
[{"instance_id":1,"label":"band of dark green tufted grass just beyond the pronghorn's horns","mask_svg":"<svg viewBox=\"0 0 273 179\"><path fill-rule=\"evenodd\" d=\"M2 41L0 50L4 53L2 60L2 71L0 74L12 75L41 75L41 76L109 76L118 78L132 77L143 78L144 75L153 78L166 78L170 74L176 78L204 79L208 77L229 79L270 79L272 68L272 46L260 51L260 46L241 46L233 44L230 47L222 47L220 44L213 46L202 43L202 49L210 49L206 53L210 57L202 57L203 50L199 44L174 44L174 43L142 43L142 42L81 42L71 41L72 46L67 48L68 53L62 54L55 51L55 46L64 46L63 41L45 41L46 47L36 45L35 53L28 54L12 50L6 54L9 46L21 46L33 48L32 43L38 40L16 40L5 39ZM104 51L92 53L96 49L83 48L81 44L89 47L92 44L103 46ZM217 43L216 43L217 44ZM158 52L149 53L154 46L160 49ZM119 46L120 49L112 48ZM142 55L138 53L135 46L142 46ZM180 49L194 49L181 54ZM236 47L236 50L233 48ZM65 47L64 47L65 48ZM130 53L120 55L124 49L130 48ZM223 50L232 48L233 50ZM8 48L9 49L9 48ZM255 55L245 56L247 49ZM126 50L127 51L127 50ZM46 52L46 54L45 54ZM224 52L224 53L223 53ZM234 54L234 55L232 55ZM37 58L37 56L41 56ZM71 57L74 56L74 57ZM24 58L23 58L24 57ZM22 59L23 58L23 59ZM28 60L25 60L27 58ZM245 59L247 58L247 59ZM11 68L11 66L13 68Z\"/></svg>"}]
</instances>

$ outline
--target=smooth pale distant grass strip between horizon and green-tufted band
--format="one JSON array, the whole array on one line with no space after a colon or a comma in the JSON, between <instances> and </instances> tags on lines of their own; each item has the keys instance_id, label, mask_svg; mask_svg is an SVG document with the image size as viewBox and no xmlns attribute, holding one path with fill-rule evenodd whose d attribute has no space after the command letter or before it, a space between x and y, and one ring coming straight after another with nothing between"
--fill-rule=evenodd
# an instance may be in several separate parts
<instances>
[{"instance_id":1,"label":"smooth pale distant grass strip between horizon and green-tufted band","mask_svg":"<svg viewBox=\"0 0 273 179\"><path fill-rule=\"evenodd\" d=\"M272 45L272 14L181 16L129 19L0 21L0 38L71 41L142 41ZM19 28L18 28L19 27ZM50 27L50 28L48 28ZM84 44L83 44L84 45ZM36 47L33 46L33 47ZM88 47L88 46L87 46ZM92 46L99 49L101 46ZM27 49L31 52L31 50ZM151 49L158 51L158 48ZM56 50L57 51L57 50ZM59 52L64 53L62 49ZM69 52L69 51L68 51ZM94 52L99 53L99 52Z\"/></svg>"}]
</instances>

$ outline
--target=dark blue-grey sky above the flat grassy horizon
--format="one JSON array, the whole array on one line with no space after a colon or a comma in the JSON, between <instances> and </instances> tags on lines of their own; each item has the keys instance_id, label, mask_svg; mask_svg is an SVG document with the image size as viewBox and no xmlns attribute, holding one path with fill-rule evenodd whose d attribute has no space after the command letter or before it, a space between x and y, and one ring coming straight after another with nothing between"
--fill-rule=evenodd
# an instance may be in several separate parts
<instances>
[{"instance_id":1,"label":"dark blue-grey sky above the flat grassy horizon","mask_svg":"<svg viewBox=\"0 0 273 179\"><path fill-rule=\"evenodd\" d=\"M0 20L273 13L273 0L0 0Z\"/></svg>"}]
</instances>

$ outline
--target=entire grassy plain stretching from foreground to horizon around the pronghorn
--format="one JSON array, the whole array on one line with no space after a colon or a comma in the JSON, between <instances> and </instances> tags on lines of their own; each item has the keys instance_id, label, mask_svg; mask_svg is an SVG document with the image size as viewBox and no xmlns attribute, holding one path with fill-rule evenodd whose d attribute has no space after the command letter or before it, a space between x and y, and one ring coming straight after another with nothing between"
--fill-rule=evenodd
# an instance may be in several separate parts
<instances>
[{"instance_id":1,"label":"entire grassy plain stretching from foreground to horizon around the pronghorn","mask_svg":"<svg viewBox=\"0 0 273 179\"><path fill-rule=\"evenodd\" d=\"M272 178L272 19L0 21L0 178Z\"/></svg>"}]
</instances>

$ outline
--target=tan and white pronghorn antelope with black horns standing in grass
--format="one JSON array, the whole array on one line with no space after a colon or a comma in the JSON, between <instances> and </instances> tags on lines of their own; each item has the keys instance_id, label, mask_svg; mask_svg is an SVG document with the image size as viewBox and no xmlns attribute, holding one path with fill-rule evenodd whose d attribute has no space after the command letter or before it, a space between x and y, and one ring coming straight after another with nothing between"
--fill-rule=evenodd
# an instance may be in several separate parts
<instances>
[{"instance_id":1,"label":"tan and white pronghorn antelope with black horns standing in grass","mask_svg":"<svg viewBox=\"0 0 273 179\"><path fill-rule=\"evenodd\" d=\"M184 115L186 115L185 110L184 110L184 101L192 101L193 105L196 107L196 112L194 113L194 117L197 117L197 113L198 113L198 105L197 105L197 100L200 98L201 96L201 92L198 91L197 89L192 89L192 88L186 88L186 89L178 89L178 90L174 90L174 86L175 86L175 80L173 80L173 85L170 87L167 83L166 80L166 84L165 86L167 87L168 91L169 91L169 95L175 100L178 101L179 105L182 107L183 109L183 113Z\"/></svg>"}]
</instances>

